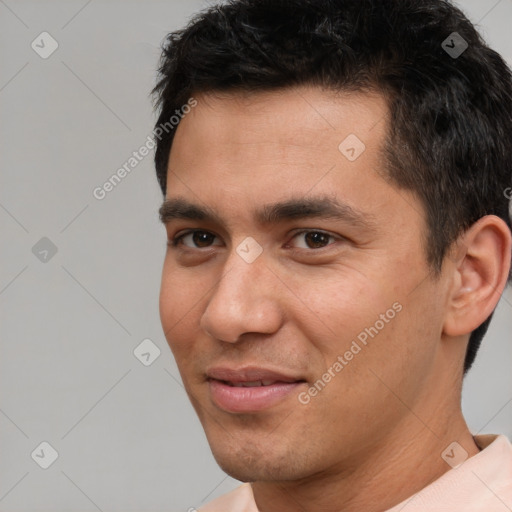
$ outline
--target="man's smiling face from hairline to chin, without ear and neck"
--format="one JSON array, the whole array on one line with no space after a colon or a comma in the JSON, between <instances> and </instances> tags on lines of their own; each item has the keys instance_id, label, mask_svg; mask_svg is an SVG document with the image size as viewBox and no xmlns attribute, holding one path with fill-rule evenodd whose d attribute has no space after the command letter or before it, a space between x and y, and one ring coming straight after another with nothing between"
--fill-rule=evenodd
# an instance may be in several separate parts
<instances>
[{"instance_id":1,"label":"man's smiling face from hairline to chin, without ear and neck","mask_svg":"<svg viewBox=\"0 0 512 512\"><path fill-rule=\"evenodd\" d=\"M432 389L447 290L418 199L382 177L386 102L319 88L196 99L167 199L217 219L164 212L169 239L197 233L167 250L160 315L212 452L242 481L371 460L424 428L410 408ZM326 198L339 216L256 216ZM240 387L254 380L266 386Z\"/></svg>"}]
</instances>

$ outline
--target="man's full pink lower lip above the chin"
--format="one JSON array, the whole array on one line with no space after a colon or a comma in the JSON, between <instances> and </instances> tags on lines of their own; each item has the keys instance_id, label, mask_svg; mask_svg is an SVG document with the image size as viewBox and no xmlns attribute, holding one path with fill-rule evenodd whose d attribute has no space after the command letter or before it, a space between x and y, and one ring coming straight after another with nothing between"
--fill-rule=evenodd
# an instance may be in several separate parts
<instances>
[{"instance_id":1,"label":"man's full pink lower lip above the chin","mask_svg":"<svg viewBox=\"0 0 512 512\"><path fill-rule=\"evenodd\" d=\"M270 386L236 387L219 380L208 381L217 407L227 412L257 412L268 409L296 391L304 382L276 382Z\"/></svg>"}]
</instances>

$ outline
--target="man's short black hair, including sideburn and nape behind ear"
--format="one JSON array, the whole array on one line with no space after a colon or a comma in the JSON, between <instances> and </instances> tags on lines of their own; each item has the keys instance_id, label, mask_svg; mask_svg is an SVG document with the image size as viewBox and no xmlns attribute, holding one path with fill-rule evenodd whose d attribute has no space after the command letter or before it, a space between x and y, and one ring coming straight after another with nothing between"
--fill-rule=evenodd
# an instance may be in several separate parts
<instances>
[{"instance_id":1,"label":"man's short black hair, including sideburn and nape behind ear","mask_svg":"<svg viewBox=\"0 0 512 512\"><path fill-rule=\"evenodd\" d=\"M424 208L434 275L451 244L479 218L496 215L511 228L511 72L449 1L231 0L211 6L162 46L152 91L155 126L193 94L298 85L385 95L386 177L415 193ZM164 196L173 136L166 130L156 143ZM464 373L493 314L471 333Z\"/></svg>"}]
</instances>

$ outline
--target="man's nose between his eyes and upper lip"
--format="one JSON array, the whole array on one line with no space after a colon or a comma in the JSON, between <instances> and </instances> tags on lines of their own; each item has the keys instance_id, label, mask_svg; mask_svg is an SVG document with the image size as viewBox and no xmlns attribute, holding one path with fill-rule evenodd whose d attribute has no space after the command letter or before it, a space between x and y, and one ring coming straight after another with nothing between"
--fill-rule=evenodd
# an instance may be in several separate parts
<instances>
[{"instance_id":1,"label":"man's nose between his eyes and upper lip","mask_svg":"<svg viewBox=\"0 0 512 512\"><path fill-rule=\"evenodd\" d=\"M280 290L284 292L284 285L267 267L263 255L247 263L234 251L223 267L200 326L212 337L231 343L245 333L274 333L282 323Z\"/></svg>"}]
</instances>

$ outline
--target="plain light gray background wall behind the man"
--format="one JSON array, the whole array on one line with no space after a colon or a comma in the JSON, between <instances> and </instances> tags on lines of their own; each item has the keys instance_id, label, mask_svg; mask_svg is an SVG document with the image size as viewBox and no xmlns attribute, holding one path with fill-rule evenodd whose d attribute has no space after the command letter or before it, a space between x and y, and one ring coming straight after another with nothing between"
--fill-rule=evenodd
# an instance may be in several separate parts
<instances>
[{"instance_id":1,"label":"plain light gray background wall behind the man","mask_svg":"<svg viewBox=\"0 0 512 512\"><path fill-rule=\"evenodd\" d=\"M0 0L0 511L185 511L239 484L161 330L152 154L92 194L151 133L162 39L206 5ZM512 0L460 5L511 63ZM47 59L31 48L43 31L59 44ZM46 262L43 237L57 247ZM512 437L511 332L508 289L464 385L473 433ZM150 366L133 353L147 338ZM43 441L59 455L48 469L31 458Z\"/></svg>"}]
</instances>

